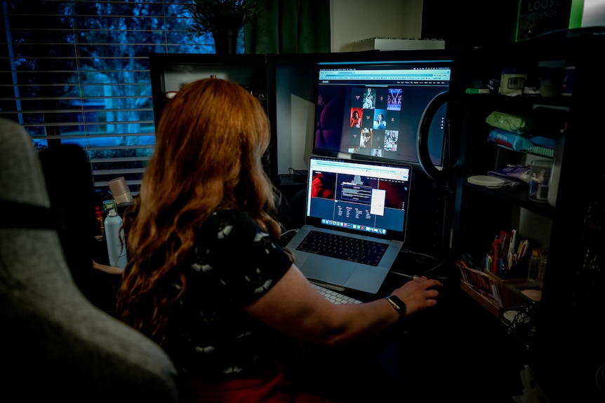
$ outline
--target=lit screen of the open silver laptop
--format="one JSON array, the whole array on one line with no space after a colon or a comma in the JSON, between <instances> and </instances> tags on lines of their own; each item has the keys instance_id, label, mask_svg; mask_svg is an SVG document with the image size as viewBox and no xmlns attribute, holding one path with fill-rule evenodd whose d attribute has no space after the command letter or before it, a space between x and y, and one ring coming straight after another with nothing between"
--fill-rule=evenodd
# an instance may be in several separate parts
<instances>
[{"instance_id":1,"label":"lit screen of the open silver laptop","mask_svg":"<svg viewBox=\"0 0 605 403\"><path fill-rule=\"evenodd\" d=\"M412 168L311 156L307 224L378 238L405 238Z\"/></svg>"}]
</instances>

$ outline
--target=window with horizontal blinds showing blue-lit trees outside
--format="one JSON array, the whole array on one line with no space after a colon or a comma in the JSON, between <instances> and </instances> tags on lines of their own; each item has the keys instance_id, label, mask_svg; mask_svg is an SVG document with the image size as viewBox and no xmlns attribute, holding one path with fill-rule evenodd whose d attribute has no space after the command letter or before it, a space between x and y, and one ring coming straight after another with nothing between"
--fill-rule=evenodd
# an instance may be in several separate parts
<instances>
[{"instance_id":1,"label":"window with horizontal blinds showing blue-lit trees outside","mask_svg":"<svg viewBox=\"0 0 605 403\"><path fill-rule=\"evenodd\" d=\"M211 34L188 35L185 1L1 4L0 116L37 148L81 146L95 188L125 177L138 193L155 144L148 55L214 53Z\"/></svg>"}]
</instances>

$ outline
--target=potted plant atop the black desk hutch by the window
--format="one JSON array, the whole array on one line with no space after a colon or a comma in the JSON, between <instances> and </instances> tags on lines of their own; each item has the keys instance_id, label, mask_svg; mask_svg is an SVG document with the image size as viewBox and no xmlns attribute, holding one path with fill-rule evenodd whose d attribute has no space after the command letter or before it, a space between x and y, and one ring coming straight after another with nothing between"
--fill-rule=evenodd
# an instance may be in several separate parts
<instances>
[{"instance_id":1,"label":"potted plant atop the black desk hutch by the window","mask_svg":"<svg viewBox=\"0 0 605 403\"><path fill-rule=\"evenodd\" d=\"M191 36L212 33L216 53L235 53L237 34L247 22L258 15L255 0L193 0L187 10L191 13Z\"/></svg>"}]
</instances>

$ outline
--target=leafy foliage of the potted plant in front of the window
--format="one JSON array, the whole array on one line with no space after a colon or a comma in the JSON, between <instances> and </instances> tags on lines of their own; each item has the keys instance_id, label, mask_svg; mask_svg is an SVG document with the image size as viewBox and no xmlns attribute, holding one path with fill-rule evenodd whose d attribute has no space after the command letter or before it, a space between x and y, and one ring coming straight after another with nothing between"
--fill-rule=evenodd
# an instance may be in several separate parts
<instances>
[{"instance_id":1,"label":"leafy foliage of the potted plant in front of the window","mask_svg":"<svg viewBox=\"0 0 605 403\"><path fill-rule=\"evenodd\" d=\"M254 0L193 0L186 6L191 13L190 36L213 31L239 31L258 15Z\"/></svg>"}]
</instances>

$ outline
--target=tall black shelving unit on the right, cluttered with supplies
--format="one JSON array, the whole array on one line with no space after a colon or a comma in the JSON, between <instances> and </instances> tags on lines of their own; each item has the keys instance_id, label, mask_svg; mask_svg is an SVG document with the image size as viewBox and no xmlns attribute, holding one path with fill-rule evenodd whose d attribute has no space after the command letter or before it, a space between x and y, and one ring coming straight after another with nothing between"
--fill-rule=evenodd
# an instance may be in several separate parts
<instances>
[{"instance_id":1,"label":"tall black shelving unit on the right, cluttered with supplies","mask_svg":"<svg viewBox=\"0 0 605 403\"><path fill-rule=\"evenodd\" d=\"M594 59L603 49L605 38L601 34L569 32L507 46L476 48L464 57L469 87L499 78L504 67L523 67L530 74L538 74L540 62L557 61L575 67L571 96L464 95L456 172L456 253L470 253L481 260L500 230L524 226L540 235L540 246L547 249L542 298L538 303L531 301L535 317L529 325L514 329L503 325L502 332L514 336L511 343L517 343L521 351L519 364L531 367L552 402L598 402L605 398L605 280L601 266L605 245L604 238L599 238L600 231L600 235L594 231L602 224L605 210L605 165L598 134L603 131L599 116L605 110L601 97L605 81L597 78L600 68ZM531 158L527 153L488 142L493 128L486 117L492 111L529 114L536 105L569 109L556 207L528 200L526 184L487 189L467 182L472 175L486 175L506 163L523 164ZM472 296L484 303L480 296ZM501 321L502 313L496 311L494 320Z\"/></svg>"}]
</instances>

